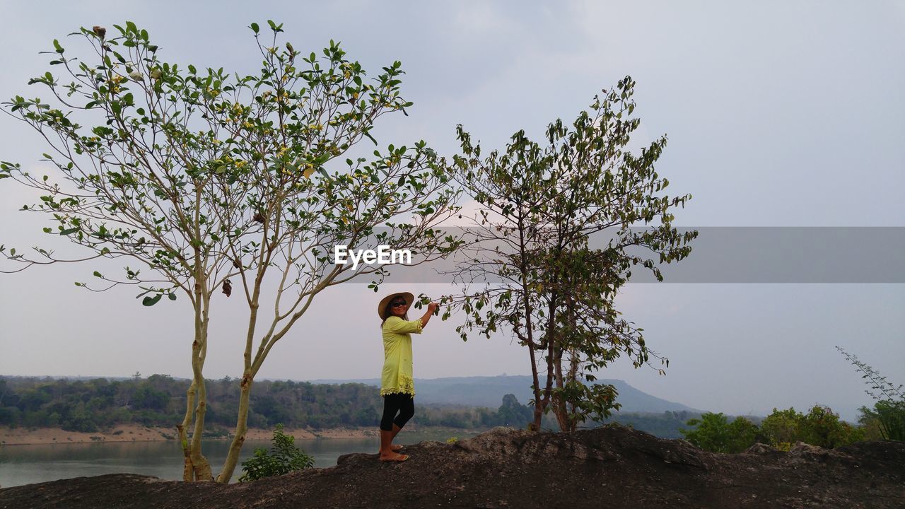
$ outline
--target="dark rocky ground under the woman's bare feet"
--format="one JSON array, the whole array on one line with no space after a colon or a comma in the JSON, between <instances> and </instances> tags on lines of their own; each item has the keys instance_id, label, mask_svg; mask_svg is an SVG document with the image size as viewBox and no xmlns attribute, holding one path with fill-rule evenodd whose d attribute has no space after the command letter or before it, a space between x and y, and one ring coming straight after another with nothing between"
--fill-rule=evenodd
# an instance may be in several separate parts
<instances>
[{"instance_id":1,"label":"dark rocky ground under the woman's bare feet","mask_svg":"<svg viewBox=\"0 0 905 509\"><path fill-rule=\"evenodd\" d=\"M0 490L4 509L251 507L905 507L905 443L710 454L608 426L574 434L495 428L423 442L398 464L341 456L338 466L233 485L141 475L78 477Z\"/></svg>"}]
</instances>

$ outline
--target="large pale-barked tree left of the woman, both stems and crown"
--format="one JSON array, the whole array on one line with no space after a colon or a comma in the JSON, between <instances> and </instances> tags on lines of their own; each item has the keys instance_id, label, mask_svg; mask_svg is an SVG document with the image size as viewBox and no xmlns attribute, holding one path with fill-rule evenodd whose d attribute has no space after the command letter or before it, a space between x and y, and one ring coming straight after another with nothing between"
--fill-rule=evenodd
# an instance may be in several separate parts
<instances>
[{"instance_id":1,"label":"large pale-barked tree left of the woman, both stems and crown","mask_svg":"<svg viewBox=\"0 0 905 509\"><path fill-rule=\"evenodd\" d=\"M51 215L57 235L93 255L62 259L35 247L30 258L5 246L0 253L24 264L18 270L127 257L145 274L126 266L124 278L95 271L104 288L76 284L96 291L133 284L145 305L164 295L176 300L176 293L192 304L193 381L178 426L186 480L213 478L201 437L208 317L217 290L229 297L238 280L249 307L235 438L218 475L228 482L244 441L252 381L273 345L328 286L376 274L376 291L388 274L383 267L332 264L330 248L380 243L408 248L424 263L456 245L431 227L454 211L457 193L423 141L375 150L370 162L347 158L332 174L326 168L361 139L374 140L378 117L411 105L399 95L401 64L366 82L365 70L338 44L331 41L323 57L303 56L291 43L278 48L282 25L268 24L270 45L262 43L260 27L250 25L262 67L246 76L163 62L148 32L132 22L115 25L112 37L100 26L82 28L74 35L88 43L90 62L64 55L54 41L51 64L62 67L65 81L51 72L31 81L47 86L54 104L20 96L5 103L51 147L45 159L65 187L11 162L0 164L0 178L45 193L43 203L24 210ZM405 214L414 216L411 224L390 222ZM376 232L377 226L386 230ZM254 351L271 268L279 279L274 315ZM287 304L289 290L297 292Z\"/></svg>"}]
</instances>

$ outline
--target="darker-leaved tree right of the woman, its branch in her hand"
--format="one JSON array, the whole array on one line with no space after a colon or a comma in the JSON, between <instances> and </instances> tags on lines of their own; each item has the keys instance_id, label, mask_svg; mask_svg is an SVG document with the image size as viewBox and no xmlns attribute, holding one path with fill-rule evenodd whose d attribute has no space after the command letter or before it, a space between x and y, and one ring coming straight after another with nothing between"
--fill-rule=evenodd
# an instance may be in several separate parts
<instances>
[{"instance_id":1,"label":"darker-leaved tree right of the woman, its branch in her hand","mask_svg":"<svg viewBox=\"0 0 905 509\"><path fill-rule=\"evenodd\" d=\"M457 328L463 341L468 331L489 338L503 328L527 347L534 429L550 408L565 431L618 408L614 387L584 382L593 382L596 371L622 354L635 367L659 356L648 350L642 329L619 317L615 295L638 264L662 280L645 256L681 260L697 235L672 227L671 209L691 195L660 193L669 182L653 167L665 137L640 155L626 149L640 124L630 118L633 86L625 77L570 125L549 124L543 144L519 130L504 152L482 158L481 146L462 126L457 130L462 154L450 168L481 210L463 249L469 259L454 271L462 295L442 302L465 312ZM649 226L656 219L660 224ZM632 229L640 225L649 227ZM604 233L613 238L604 248L593 247L592 235ZM475 282L480 290L472 290ZM448 308L443 319L451 314Z\"/></svg>"}]
</instances>

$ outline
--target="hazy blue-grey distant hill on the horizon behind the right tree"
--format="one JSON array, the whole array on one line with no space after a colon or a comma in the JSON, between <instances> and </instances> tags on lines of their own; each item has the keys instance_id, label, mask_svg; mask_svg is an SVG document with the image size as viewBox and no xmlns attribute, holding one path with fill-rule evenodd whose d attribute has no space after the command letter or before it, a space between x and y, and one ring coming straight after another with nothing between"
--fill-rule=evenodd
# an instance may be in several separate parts
<instances>
[{"instance_id":1,"label":"hazy blue-grey distant hill on the horizon behind the right tree","mask_svg":"<svg viewBox=\"0 0 905 509\"><path fill-rule=\"evenodd\" d=\"M316 379L311 383L363 383L379 386L380 379ZM700 412L681 403L667 401L635 389L623 380L602 379L600 383L613 384L619 391L617 402L621 412L662 413L667 410ZM534 399L529 375L500 375L496 377L450 377L444 379L415 379L414 390L419 403L468 405L497 408L506 394L514 394L519 403Z\"/></svg>"}]
</instances>

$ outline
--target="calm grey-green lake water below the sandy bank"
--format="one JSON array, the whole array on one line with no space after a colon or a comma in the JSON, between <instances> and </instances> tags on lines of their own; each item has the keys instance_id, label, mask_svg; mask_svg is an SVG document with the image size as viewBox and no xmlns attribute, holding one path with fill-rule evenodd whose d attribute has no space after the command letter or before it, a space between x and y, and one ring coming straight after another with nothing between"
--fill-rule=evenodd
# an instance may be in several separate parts
<instances>
[{"instance_id":1,"label":"calm grey-green lake water below the sandy bank","mask_svg":"<svg viewBox=\"0 0 905 509\"><path fill-rule=\"evenodd\" d=\"M477 432L412 431L401 433L396 443L416 444L424 440L445 441L449 437L472 437ZM335 466L339 456L349 453L376 454L379 437L312 438L295 441L314 456L314 466ZM268 440L249 440L242 449L240 465L233 481L242 475L242 461L252 456L255 447L270 448ZM223 466L229 449L228 440L207 440L205 456L214 475ZM96 442L91 444L41 444L0 447L0 487L8 488L85 475L140 474L161 479L182 479L182 450L175 440L161 442Z\"/></svg>"}]
</instances>

